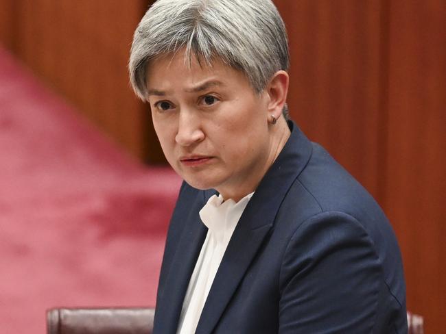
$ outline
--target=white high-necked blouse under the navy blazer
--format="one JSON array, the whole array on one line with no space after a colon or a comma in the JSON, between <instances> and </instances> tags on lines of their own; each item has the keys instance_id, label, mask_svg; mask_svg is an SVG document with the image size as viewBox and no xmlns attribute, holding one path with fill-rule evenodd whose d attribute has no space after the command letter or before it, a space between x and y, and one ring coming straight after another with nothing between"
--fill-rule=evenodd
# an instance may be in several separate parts
<instances>
[{"instance_id":1,"label":"white high-necked blouse under the navy blazer","mask_svg":"<svg viewBox=\"0 0 446 334\"><path fill-rule=\"evenodd\" d=\"M253 194L246 195L237 203L232 199L224 201L221 195L213 195L200 210L200 218L208 231L187 287L177 334L195 333L226 247Z\"/></svg>"}]
</instances>

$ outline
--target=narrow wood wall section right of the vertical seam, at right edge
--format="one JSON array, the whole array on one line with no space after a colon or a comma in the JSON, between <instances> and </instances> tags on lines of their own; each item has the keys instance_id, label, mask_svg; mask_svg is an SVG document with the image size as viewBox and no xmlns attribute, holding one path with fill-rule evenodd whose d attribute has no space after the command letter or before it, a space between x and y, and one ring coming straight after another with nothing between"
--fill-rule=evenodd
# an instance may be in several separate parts
<instances>
[{"instance_id":1,"label":"narrow wood wall section right of the vertical seam, at right edge","mask_svg":"<svg viewBox=\"0 0 446 334\"><path fill-rule=\"evenodd\" d=\"M426 333L446 314L446 2L392 0L386 201L403 253L408 308Z\"/></svg>"}]
</instances>

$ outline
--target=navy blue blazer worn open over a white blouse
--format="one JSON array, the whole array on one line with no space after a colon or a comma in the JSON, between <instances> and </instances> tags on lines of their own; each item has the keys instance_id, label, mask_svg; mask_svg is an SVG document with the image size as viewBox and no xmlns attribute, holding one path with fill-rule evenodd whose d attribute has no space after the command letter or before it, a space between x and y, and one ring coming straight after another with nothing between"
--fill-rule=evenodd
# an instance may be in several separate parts
<instances>
[{"instance_id":1,"label":"navy blue blazer worn open over a white blouse","mask_svg":"<svg viewBox=\"0 0 446 334\"><path fill-rule=\"evenodd\" d=\"M196 333L407 333L395 234L379 205L321 146L290 139L244 210ZM170 222L154 333L176 333L206 237L213 190L183 183Z\"/></svg>"}]
</instances>

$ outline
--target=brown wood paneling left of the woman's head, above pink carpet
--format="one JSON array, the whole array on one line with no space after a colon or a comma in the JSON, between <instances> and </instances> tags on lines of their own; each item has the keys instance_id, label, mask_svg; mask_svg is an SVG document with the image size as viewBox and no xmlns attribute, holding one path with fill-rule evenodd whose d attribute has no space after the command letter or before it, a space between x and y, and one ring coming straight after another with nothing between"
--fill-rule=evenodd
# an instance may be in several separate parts
<instances>
[{"instance_id":1,"label":"brown wood paneling left of the woman's head, above pink carpet","mask_svg":"<svg viewBox=\"0 0 446 334\"><path fill-rule=\"evenodd\" d=\"M130 153L163 161L150 112L128 84L137 1L0 0L3 44ZM3 29L2 29L3 31Z\"/></svg>"}]
</instances>

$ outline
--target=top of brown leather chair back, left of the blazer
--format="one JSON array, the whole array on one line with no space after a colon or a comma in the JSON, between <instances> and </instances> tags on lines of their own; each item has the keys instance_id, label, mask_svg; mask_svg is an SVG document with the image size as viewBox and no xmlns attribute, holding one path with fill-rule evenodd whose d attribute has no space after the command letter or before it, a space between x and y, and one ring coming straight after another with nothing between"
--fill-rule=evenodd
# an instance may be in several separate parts
<instances>
[{"instance_id":1,"label":"top of brown leather chair back, left of the blazer","mask_svg":"<svg viewBox=\"0 0 446 334\"><path fill-rule=\"evenodd\" d=\"M47 334L152 334L154 309L61 308L47 311Z\"/></svg>"}]
</instances>

